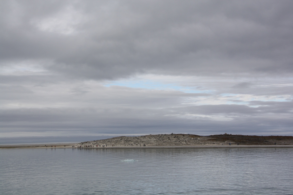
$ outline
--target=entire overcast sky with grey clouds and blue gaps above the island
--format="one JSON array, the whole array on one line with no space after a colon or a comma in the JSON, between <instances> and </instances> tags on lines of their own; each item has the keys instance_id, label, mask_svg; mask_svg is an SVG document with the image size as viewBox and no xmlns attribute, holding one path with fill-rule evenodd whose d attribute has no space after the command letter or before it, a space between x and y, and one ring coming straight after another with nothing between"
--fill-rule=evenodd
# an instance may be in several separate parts
<instances>
[{"instance_id":1,"label":"entire overcast sky with grey clouds and blue gaps above the island","mask_svg":"<svg viewBox=\"0 0 293 195\"><path fill-rule=\"evenodd\" d=\"M293 135L293 1L0 1L0 138Z\"/></svg>"}]
</instances>

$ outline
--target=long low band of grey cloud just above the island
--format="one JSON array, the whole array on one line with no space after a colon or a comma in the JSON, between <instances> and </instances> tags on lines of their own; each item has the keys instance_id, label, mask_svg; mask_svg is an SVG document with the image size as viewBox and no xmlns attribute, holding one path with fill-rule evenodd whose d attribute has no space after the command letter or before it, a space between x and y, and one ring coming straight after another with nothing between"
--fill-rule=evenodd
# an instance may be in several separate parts
<instances>
[{"instance_id":1,"label":"long low band of grey cloud just above the island","mask_svg":"<svg viewBox=\"0 0 293 195\"><path fill-rule=\"evenodd\" d=\"M6 129L4 132L39 132L42 129L59 133L69 131L72 134L147 134L146 132L170 131L195 134L219 134L223 131L268 134L278 128L283 129L283 133L288 133L292 126L291 113L288 109L286 112L282 108L276 109L280 105L281 103L273 108L209 105L177 109L142 109L116 105L100 108L10 109L2 110L0 118L1 128ZM284 109L291 105L292 102L283 103L282 107ZM184 114L202 116L180 117ZM209 117L221 114L232 120L213 120Z\"/></svg>"}]
</instances>

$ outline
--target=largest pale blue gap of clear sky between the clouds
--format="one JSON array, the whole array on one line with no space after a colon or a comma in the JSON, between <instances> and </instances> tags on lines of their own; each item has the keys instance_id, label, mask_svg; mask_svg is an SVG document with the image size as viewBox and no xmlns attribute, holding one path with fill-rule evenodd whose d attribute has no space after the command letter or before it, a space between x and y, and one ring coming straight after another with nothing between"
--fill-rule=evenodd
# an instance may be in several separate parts
<instances>
[{"instance_id":1,"label":"largest pale blue gap of clear sky between the clouds","mask_svg":"<svg viewBox=\"0 0 293 195\"><path fill-rule=\"evenodd\" d=\"M212 93L212 90L198 90L195 87L180 86L173 83L161 83L151 80L129 80L129 81L113 81L104 84L105 87L122 86L139 89L155 89L155 90L174 90L184 93Z\"/></svg>"}]
</instances>

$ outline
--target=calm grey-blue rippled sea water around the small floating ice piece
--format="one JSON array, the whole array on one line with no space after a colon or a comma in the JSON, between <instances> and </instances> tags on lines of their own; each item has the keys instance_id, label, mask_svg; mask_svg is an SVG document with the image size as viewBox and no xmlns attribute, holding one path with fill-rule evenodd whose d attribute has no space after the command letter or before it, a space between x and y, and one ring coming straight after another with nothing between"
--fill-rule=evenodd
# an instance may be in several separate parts
<instances>
[{"instance_id":1,"label":"calm grey-blue rippled sea water around the small floating ice piece","mask_svg":"<svg viewBox=\"0 0 293 195\"><path fill-rule=\"evenodd\" d=\"M293 194L293 148L1 149L0 194Z\"/></svg>"}]
</instances>

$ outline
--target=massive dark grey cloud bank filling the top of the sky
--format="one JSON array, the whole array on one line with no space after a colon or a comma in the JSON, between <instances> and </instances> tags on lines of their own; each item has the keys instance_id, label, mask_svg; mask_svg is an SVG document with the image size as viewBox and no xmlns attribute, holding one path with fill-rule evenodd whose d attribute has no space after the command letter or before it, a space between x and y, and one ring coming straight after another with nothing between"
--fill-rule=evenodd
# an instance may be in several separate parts
<instances>
[{"instance_id":1,"label":"massive dark grey cloud bank filling the top of the sky","mask_svg":"<svg viewBox=\"0 0 293 195\"><path fill-rule=\"evenodd\" d=\"M7 24L13 12L1 17L2 59L50 59L50 70L94 79L292 72L291 1L15 2L2 3L21 7L14 27L12 19ZM68 5L86 18L74 25L76 34L42 32L31 23Z\"/></svg>"}]
</instances>

